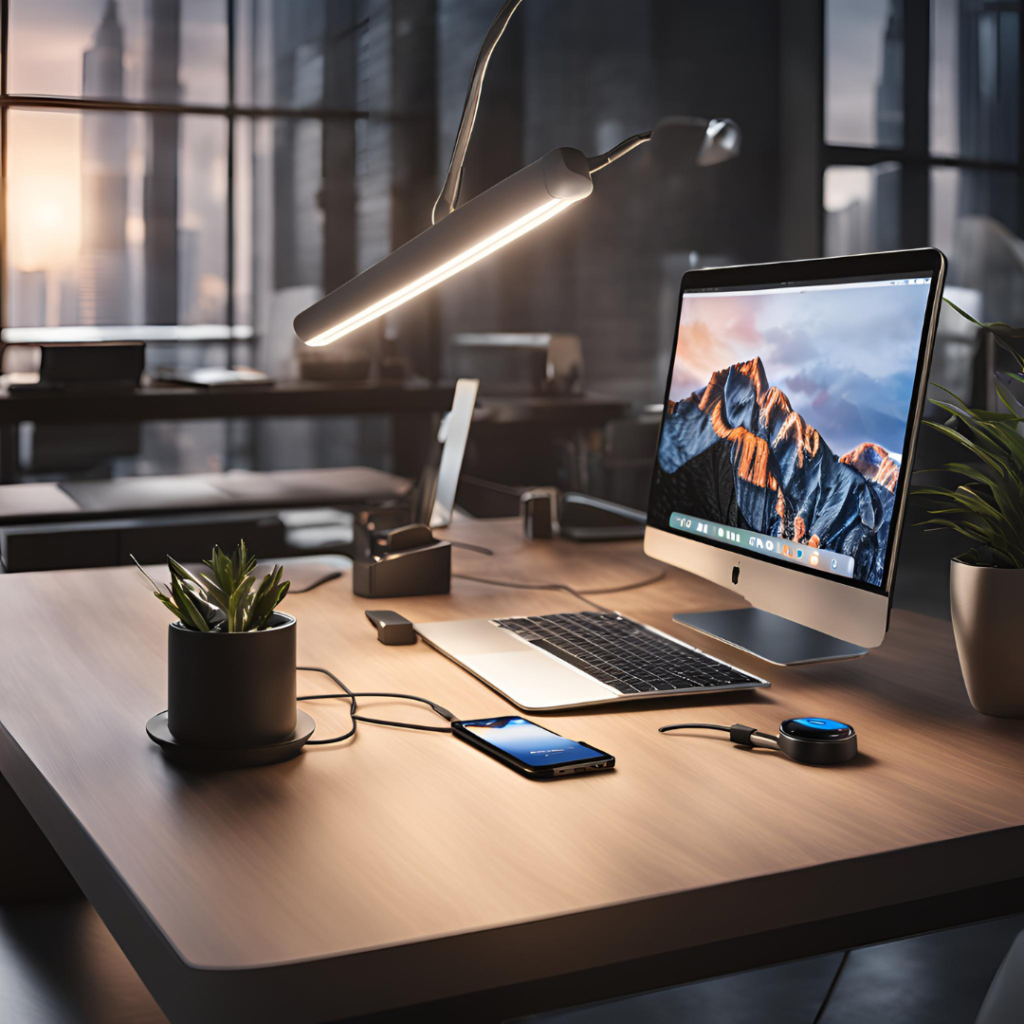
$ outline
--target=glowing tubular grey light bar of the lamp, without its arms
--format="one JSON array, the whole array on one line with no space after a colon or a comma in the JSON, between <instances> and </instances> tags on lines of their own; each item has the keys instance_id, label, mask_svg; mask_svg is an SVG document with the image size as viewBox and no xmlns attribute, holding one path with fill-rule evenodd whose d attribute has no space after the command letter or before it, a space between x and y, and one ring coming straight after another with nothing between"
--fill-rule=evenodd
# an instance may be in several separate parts
<instances>
[{"instance_id":1,"label":"glowing tubular grey light bar of the lamp, without its arms","mask_svg":"<svg viewBox=\"0 0 1024 1024\"><path fill-rule=\"evenodd\" d=\"M593 190L587 158L555 150L481 193L295 318L330 345L555 217Z\"/></svg>"}]
</instances>

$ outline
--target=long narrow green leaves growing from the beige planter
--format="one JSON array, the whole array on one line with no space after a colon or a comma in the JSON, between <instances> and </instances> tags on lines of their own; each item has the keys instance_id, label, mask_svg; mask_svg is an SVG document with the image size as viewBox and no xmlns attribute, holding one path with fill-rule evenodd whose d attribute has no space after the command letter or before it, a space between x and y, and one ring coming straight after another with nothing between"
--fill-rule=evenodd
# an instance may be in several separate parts
<instances>
[{"instance_id":1,"label":"long narrow green leaves growing from the beige planter","mask_svg":"<svg viewBox=\"0 0 1024 1024\"><path fill-rule=\"evenodd\" d=\"M949 414L945 423L928 422L933 430L962 445L971 462L950 462L942 472L959 478L954 486L921 487L918 495L941 499L929 508L931 528L955 529L977 547L962 556L974 565L1024 568L1024 409L1014 398L1010 385L1024 383L1024 355L1011 339L1024 338L1024 328L1007 324L982 324L959 306L945 302L972 324L990 331L1014 359L1017 372L996 375L996 393L1006 412L972 409L952 391L943 388L949 401L932 403ZM957 429L959 428L959 429Z\"/></svg>"}]
</instances>

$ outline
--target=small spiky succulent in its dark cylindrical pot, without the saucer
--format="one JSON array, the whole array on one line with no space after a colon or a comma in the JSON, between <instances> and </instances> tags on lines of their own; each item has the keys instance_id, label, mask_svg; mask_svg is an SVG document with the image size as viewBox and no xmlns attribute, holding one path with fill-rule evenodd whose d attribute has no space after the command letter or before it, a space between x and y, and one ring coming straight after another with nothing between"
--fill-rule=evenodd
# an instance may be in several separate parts
<instances>
[{"instance_id":1,"label":"small spiky succulent in its dark cylindrical pot, without the saucer","mask_svg":"<svg viewBox=\"0 0 1024 1024\"><path fill-rule=\"evenodd\" d=\"M138 562L135 562L138 565ZM177 622L167 637L167 729L179 744L242 750L287 739L296 728L295 620L278 611L282 568L256 584L243 541L219 548L198 575L168 557L170 586L139 565Z\"/></svg>"}]
</instances>

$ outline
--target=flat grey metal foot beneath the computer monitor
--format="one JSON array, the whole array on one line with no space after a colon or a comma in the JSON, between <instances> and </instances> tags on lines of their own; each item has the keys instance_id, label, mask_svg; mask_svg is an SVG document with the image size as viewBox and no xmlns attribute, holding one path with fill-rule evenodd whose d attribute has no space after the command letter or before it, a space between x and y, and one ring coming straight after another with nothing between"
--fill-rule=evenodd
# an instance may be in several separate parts
<instances>
[{"instance_id":1,"label":"flat grey metal foot beneath the computer monitor","mask_svg":"<svg viewBox=\"0 0 1024 1024\"><path fill-rule=\"evenodd\" d=\"M810 665L814 662L842 662L863 657L864 647L819 633L788 618L760 608L730 611L700 611L674 615L691 630L756 654L772 665Z\"/></svg>"}]
</instances>

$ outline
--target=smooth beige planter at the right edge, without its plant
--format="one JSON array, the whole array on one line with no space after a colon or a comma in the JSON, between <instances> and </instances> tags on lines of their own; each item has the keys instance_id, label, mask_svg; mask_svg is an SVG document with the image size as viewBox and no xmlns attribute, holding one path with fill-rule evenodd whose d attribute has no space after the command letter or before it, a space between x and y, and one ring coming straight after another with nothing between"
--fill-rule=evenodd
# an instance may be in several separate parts
<instances>
[{"instance_id":1,"label":"smooth beige planter at the right edge, without its plant","mask_svg":"<svg viewBox=\"0 0 1024 1024\"><path fill-rule=\"evenodd\" d=\"M954 558L949 609L971 703L983 715L1024 718L1024 569Z\"/></svg>"}]
</instances>

